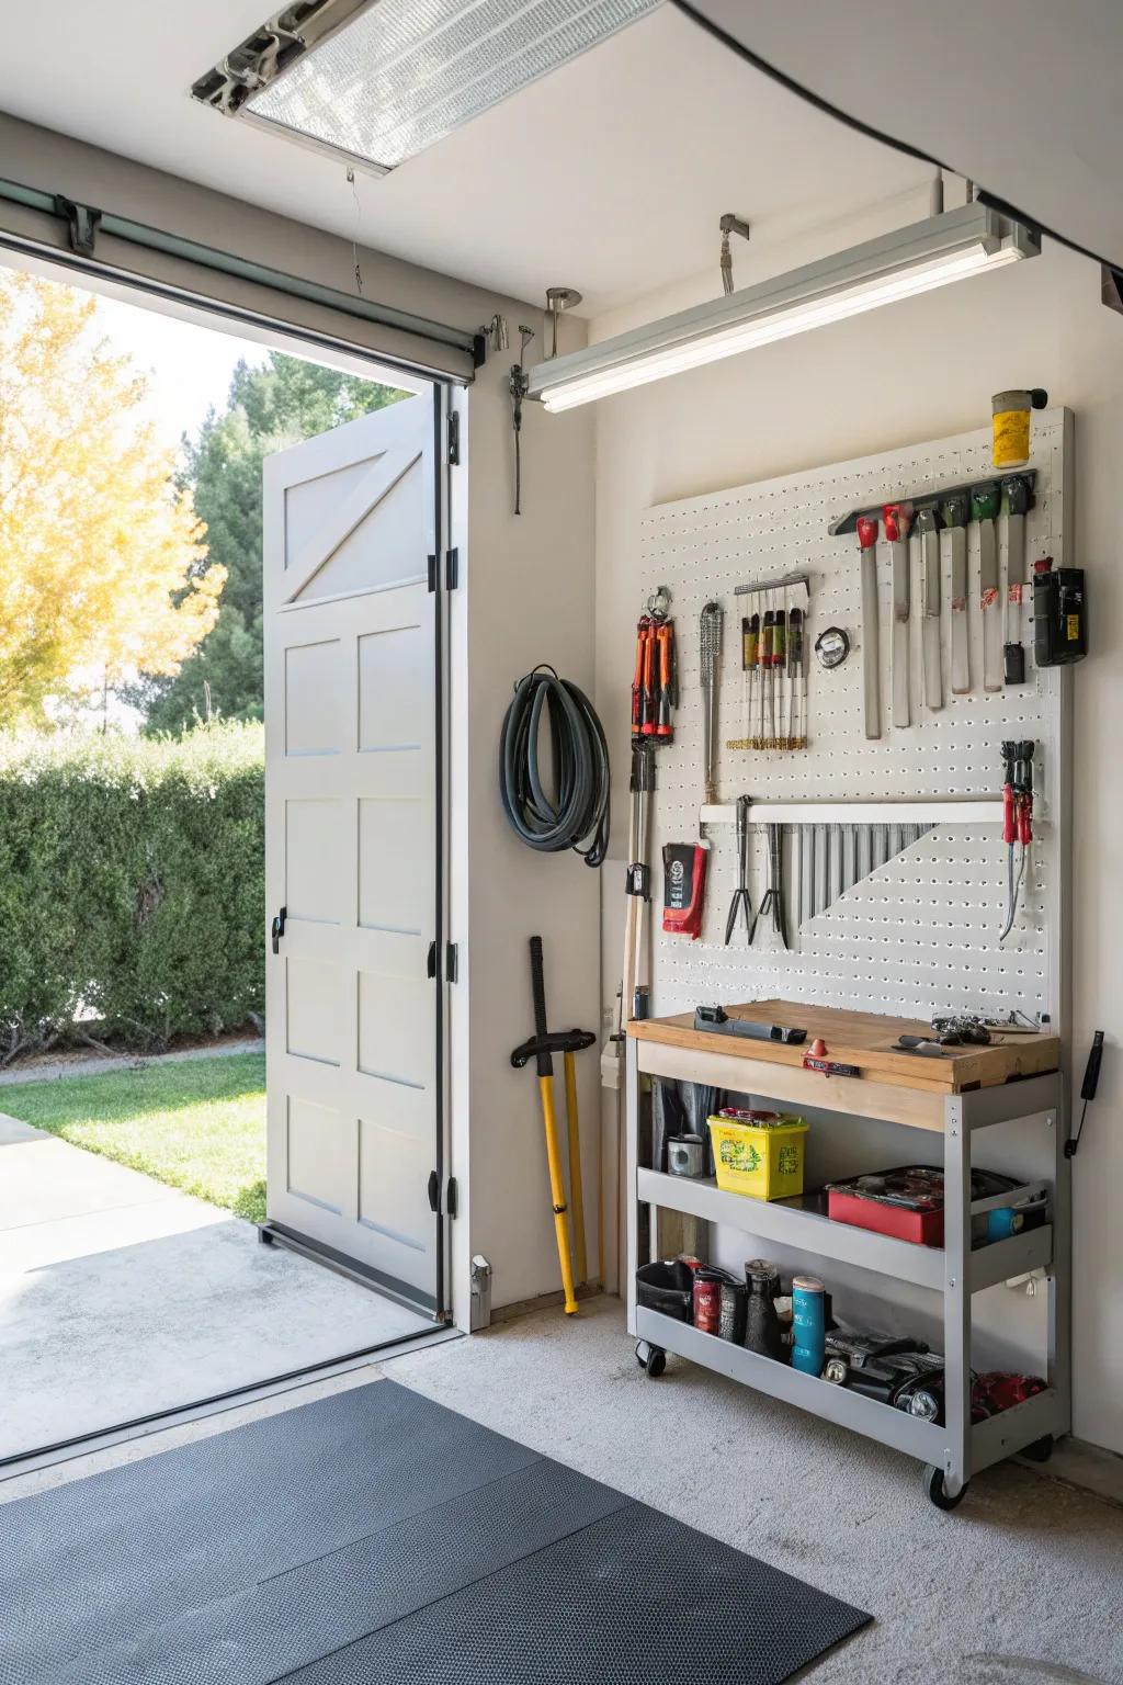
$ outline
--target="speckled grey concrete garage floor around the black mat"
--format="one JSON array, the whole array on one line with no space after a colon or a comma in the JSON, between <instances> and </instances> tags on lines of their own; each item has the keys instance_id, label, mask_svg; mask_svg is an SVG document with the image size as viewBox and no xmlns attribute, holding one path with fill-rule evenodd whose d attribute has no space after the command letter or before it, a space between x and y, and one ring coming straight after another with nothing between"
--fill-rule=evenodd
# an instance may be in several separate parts
<instances>
[{"instance_id":1,"label":"speckled grey concrete garage floor around the black mat","mask_svg":"<svg viewBox=\"0 0 1123 1685\"><path fill-rule=\"evenodd\" d=\"M12 1478L0 1503L381 1375L870 1609L815 1685L1123 1685L1123 1508L1003 1464L941 1515L907 1458L675 1358L650 1382L613 1299Z\"/></svg>"}]
</instances>

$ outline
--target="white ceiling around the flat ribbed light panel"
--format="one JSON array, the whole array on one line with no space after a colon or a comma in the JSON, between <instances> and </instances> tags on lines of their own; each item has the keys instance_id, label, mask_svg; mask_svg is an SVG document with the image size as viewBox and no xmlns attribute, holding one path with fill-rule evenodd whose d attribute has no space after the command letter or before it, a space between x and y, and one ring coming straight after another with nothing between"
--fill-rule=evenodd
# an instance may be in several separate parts
<instances>
[{"instance_id":1,"label":"white ceiling around the flat ribbed light panel","mask_svg":"<svg viewBox=\"0 0 1123 1685\"><path fill-rule=\"evenodd\" d=\"M717 275L724 211L769 244L929 174L663 7L394 174L360 177L355 206L342 162L189 98L273 5L10 7L0 110L515 297L577 286L588 315ZM19 179L17 160L0 175Z\"/></svg>"}]
</instances>

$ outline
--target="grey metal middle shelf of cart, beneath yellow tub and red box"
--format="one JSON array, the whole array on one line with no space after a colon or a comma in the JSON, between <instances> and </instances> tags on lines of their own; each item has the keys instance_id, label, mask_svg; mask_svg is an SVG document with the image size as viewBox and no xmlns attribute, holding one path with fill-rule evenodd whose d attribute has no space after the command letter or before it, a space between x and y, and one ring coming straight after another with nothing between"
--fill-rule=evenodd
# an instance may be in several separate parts
<instances>
[{"instance_id":1,"label":"grey metal middle shelf of cart, beneath yellow tub and red box","mask_svg":"<svg viewBox=\"0 0 1123 1685\"><path fill-rule=\"evenodd\" d=\"M1027 1185L1003 1195L1002 1201L980 1203L1014 1203L1019 1195L1030 1191L1034 1188ZM891 1276L894 1281L913 1282L916 1287L931 1287L936 1292L943 1292L945 1287L943 1247L921 1247L911 1240L874 1233L870 1228L835 1223L817 1212L800 1212L790 1205L751 1200L742 1193L719 1188L712 1176L667 1176L662 1171L638 1169L636 1193L645 1205L657 1205L663 1212L685 1212L689 1217L739 1228L741 1233L756 1235L759 1240L774 1240L780 1245L810 1252L818 1259L870 1269L879 1276ZM983 1287L992 1287L998 1281L1009 1281L1010 1276L1020 1276L1030 1269L1047 1269L1051 1260L1052 1227L1047 1223L1020 1235L1010 1235L1009 1240L993 1240L990 1245L977 1247L971 1252L971 1292L982 1292Z\"/></svg>"}]
</instances>

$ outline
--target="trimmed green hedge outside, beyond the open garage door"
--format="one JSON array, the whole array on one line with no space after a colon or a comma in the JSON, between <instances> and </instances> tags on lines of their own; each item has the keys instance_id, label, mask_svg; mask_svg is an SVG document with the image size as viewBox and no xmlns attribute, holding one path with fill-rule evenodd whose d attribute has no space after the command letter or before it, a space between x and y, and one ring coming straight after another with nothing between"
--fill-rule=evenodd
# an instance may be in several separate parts
<instances>
[{"instance_id":1,"label":"trimmed green hedge outside, beyond the open garage door","mask_svg":"<svg viewBox=\"0 0 1123 1685\"><path fill-rule=\"evenodd\" d=\"M0 740L0 1063L263 1011L261 726Z\"/></svg>"}]
</instances>

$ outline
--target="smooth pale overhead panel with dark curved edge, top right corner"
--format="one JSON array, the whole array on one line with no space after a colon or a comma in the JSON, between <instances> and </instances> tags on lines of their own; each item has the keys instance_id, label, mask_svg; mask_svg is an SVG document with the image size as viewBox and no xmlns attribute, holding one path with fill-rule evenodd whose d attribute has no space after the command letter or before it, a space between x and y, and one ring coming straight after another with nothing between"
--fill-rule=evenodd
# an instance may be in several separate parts
<instances>
[{"instance_id":1,"label":"smooth pale overhead panel with dark curved edge, top right corner","mask_svg":"<svg viewBox=\"0 0 1123 1685\"><path fill-rule=\"evenodd\" d=\"M694 5L837 110L1123 265L1120 0Z\"/></svg>"}]
</instances>

